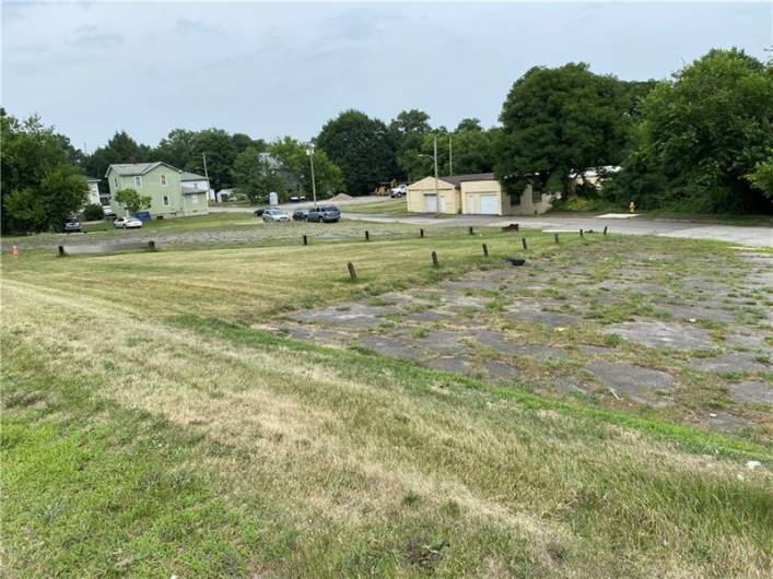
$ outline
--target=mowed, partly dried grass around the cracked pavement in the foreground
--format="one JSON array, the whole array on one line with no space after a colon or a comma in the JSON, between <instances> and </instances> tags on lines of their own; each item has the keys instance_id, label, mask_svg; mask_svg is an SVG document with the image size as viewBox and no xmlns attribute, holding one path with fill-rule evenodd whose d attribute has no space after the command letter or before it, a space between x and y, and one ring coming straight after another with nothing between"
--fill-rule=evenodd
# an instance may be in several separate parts
<instances>
[{"instance_id":1,"label":"mowed, partly dried grass around the cracked pavement in the foreground","mask_svg":"<svg viewBox=\"0 0 773 579\"><path fill-rule=\"evenodd\" d=\"M768 577L769 448L250 329L523 252L432 235L4 259L5 575Z\"/></svg>"}]
</instances>

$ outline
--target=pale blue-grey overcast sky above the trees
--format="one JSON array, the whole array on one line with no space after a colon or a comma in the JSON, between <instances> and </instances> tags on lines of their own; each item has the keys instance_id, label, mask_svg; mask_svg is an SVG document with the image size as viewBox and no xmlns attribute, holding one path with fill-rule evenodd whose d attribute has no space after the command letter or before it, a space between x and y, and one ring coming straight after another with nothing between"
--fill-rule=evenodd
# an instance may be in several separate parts
<instances>
[{"instance_id":1,"label":"pale blue-grey overcast sky above the trees","mask_svg":"<svg viewBox=\"0 0 773 579\"><path fill-rule=\"evenodd\" d=\"M340 111L497 122L534 66L665 79L713 47L766 59L773 2L2 3L2 106L86 151L118 130L307 140Z\"/></svg>"}]
</instances>

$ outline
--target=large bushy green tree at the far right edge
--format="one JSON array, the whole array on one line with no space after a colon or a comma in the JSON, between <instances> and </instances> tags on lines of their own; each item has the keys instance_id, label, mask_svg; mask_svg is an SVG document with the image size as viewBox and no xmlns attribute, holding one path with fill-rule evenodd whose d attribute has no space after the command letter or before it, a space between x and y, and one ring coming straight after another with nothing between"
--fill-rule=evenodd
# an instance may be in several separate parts
<instances>
[{"instance_id":1,"label":"large bushy green tree at the far right edge","mask_svg":"<svg viewBox=\"0 0 773 579\"><path fill-rule=\"evenodd\" d=\"M773 64L711 50L642 103L634 144L605 194L643 209L773 212Z\"/></svg>"}]
</instances>

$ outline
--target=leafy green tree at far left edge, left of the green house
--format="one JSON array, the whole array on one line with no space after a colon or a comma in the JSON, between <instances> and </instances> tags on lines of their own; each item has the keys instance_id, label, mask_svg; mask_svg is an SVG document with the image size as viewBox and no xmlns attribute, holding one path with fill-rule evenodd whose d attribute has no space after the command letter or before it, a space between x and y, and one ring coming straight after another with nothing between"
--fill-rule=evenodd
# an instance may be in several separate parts
<instances>
[{"instance_id":1,"label":"leafy green tree at far left edge, left of the green house","mask_svg":"<svg viewBox=\"0 0 773 579\"><path fill-rule=\"evenodd\" d=\"M4 113L4 111L3 111ZM2 231L61 231L87 197L85 178L70 163L61 135L32 116L0 116Z\"/></svg>"}]
</instances>

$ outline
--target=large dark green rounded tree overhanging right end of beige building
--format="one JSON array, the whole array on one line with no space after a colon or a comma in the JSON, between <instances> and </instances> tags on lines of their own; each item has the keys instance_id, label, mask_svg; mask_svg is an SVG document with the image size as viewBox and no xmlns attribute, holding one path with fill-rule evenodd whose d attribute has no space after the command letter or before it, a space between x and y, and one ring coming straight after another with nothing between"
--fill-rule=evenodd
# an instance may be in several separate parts
<instances>
[{"instance_id":1,"label":"large dark green rounded tree overhanging right end of beige building","mask_svg":"<svg viewBox=\"0 0 773 579\"><path fill-rule=\"evenodd\" d=\"M622 159L628 107L620 81L585 63L535 67L513 84L502 108L494 172L513 192L530 182L572 196L573 172Z\"/></svg>"}]
</instances>

